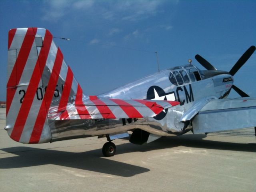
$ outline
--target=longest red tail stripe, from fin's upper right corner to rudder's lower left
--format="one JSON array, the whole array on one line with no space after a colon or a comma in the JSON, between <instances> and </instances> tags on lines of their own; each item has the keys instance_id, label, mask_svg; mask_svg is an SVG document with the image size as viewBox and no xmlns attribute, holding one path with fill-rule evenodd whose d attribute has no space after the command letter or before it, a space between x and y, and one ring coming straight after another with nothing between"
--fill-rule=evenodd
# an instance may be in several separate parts
<instances>
[{"instance_id":1,"label":"longest red tail stripe, from fin's upper right corner to rudder's lower left","mask_svg":"<svg viewBox=\"0 0 256 192\"><path fill-rule=\"evenodd\" d=\"M48 30L46 30L44 42L43 42L44 46L41 48L38 60L36 62L34 71L32 73L30 82L28 84L26 95L25 95L22 105L20 107L20 111L16 118L16 122L15 122L14 128L12 130L12 134L10 136L15 141L20 140L20 136L22 134L24 125L25 125L27 117L28 117L28 113L30 111L32 102L34 100L34 96L36 94L36 90L38 88L38 84L39 84L41 76L42 76L41 71L44 71L44 66L46 64L46 60L48 57L51 43L52 43L52 34L50 34L50 32ZM39 64L39 62L40 62L40 64Z\"/></svg>"}]
</instances>

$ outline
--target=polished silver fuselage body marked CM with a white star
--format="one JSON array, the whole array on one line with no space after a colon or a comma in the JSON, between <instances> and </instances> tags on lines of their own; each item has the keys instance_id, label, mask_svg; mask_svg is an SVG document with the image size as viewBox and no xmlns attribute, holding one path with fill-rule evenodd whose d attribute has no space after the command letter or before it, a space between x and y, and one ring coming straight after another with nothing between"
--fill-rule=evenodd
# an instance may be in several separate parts
<instances>
[{"instance_id":1,"label":"polished silver fuselage body marked CM with a white star","mask_svg":"<svg viewBox=\"0 0 256 192\"><path fill-rule=\"evenodd\" d=\"M193 66L193 68L195 67ZM199 70L201 80L193 81L189 78L189 82L183 82L182 85L172 84L171 72L179 72L182 69L186 70L186 67L163 70L98 96L99 98L118 99L176 100L180 102L180 105L164 110L156 118L50 120L52 142L116 134L135 128L159 136L175 136L188 132L192 129L192 120L182 121L182 116L201 100L226 98L233 84L233 78L230 74L225 73L207 77ZM196 70L198 69L196 68ZM230 80L224 82L224 79L227 78Z\"/></svg>"}]
</instances>

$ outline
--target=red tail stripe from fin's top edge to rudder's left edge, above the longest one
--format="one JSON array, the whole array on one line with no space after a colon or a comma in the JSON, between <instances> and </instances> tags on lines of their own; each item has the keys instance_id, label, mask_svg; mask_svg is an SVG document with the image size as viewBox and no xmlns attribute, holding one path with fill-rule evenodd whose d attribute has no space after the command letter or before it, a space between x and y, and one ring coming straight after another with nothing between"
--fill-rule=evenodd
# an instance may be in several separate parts
<instances>
[{"instance_id":1,"label":"red tail stripe from fin's top edge to rudder's left edge, above the longest one","mask_svg":"<svg viewBox=\"0 0 256 192\"><path fill-rule=\"evenodd\" d=\"M37 28L34 28L34 29L37 29ZM22 42L20 52L18 54L16 62L12 68L12 73L10 74L10 78L7 82L6 116L8 115L14 94L16 92L16 85L18 85L20 82L21 75L23 73L25 64L28 60L28 55L32 48L35 34L36 34L36 31L34 32L33 28L28 28L26 35L24 37L24 40ZM19 70L17 70L18 66L19 66Z\"/></svg>"}]
</instances>

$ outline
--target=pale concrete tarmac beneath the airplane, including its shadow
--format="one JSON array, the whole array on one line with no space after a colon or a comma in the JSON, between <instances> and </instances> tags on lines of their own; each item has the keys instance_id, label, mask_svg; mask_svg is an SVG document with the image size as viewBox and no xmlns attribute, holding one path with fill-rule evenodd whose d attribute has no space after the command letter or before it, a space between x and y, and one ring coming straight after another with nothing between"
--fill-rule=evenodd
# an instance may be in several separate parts
<instances>
[{"instance_id":1,"label":"pale concrete tarmac beneath the airplane, including its shadow","mask_svg":"<svg viewBox=\"0 0 256 192\"><path fill-rule=\"evenodd\" d=\"M1 192L256 192L254 129L160 138L147 145L106 138L20 144L9 138L0 109Z\"/></svg>"}]
</instances>

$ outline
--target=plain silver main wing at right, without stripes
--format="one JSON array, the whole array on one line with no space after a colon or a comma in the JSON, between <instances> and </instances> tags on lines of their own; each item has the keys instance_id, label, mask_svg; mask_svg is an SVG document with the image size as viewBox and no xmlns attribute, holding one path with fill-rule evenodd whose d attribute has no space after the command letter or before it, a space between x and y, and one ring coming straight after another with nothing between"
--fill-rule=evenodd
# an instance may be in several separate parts
<instances>
[{"instance_id":1,"label":"plain silver main wing at right, without stripes","mask_svg":"<svg viewBox=\"0 0 256 192\"><path fill-rule=\"evenodd\" d=\"M192 119L194 134L256 126L256 99L211 99Z\"/></svg>"}]
</instances>

